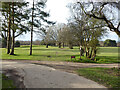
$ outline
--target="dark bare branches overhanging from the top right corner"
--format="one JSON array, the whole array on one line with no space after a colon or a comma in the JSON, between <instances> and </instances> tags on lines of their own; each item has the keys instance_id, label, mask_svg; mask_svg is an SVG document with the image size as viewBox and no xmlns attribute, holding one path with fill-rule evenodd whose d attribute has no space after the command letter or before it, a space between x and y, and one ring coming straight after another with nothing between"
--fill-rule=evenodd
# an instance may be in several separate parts
<instances>
[{"instance_id":1,"label":"dark bare branches overhanging from the top right corner","mask_svg":"<svg viewBox=\"0 0 120 90\"><path fill-rule=\"evenodd\" d=\"M120 2L91 2L91 3L80 3L82 10L84 13L98 20L103 20L106 22L107 27L109 27L110 31L115 32L120 37L120 20L116 18L116 11L120 10L119 5ZM87 5L86 5L87 4ZM86 7L84 7L86 6ZM90 6L92 6L91 10L87 10ZM85 10L86 8L86 10ZM110 8L110 9L109 9ZM116 10L117 9L117 10ZM111 18L111 16L113 18ZM117 22L117 23L115 23ZM116 27L117 25L117 27Z\"/></svg>"}]
</instances>

